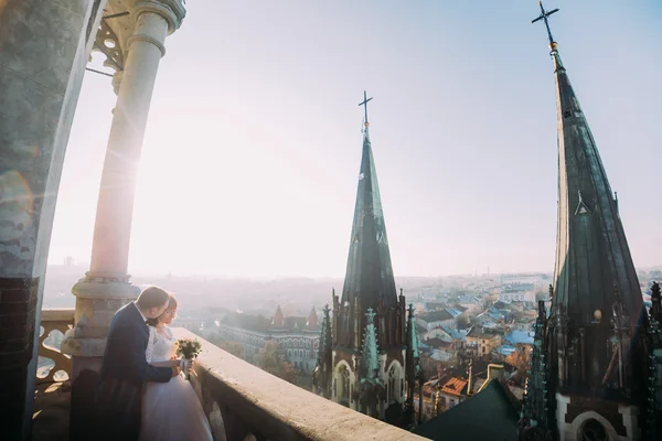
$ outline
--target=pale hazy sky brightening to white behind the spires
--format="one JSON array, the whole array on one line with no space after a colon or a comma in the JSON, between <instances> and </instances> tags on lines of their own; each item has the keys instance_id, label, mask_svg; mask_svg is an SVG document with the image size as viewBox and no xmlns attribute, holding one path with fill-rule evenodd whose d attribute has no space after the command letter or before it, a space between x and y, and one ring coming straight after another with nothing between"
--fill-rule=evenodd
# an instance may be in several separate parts
<instances>
[{"instance_id":1,"label":"pale hazy sky brightening to white behind the spires","mask_svg":"<svg viewBox=\"0 0 662 441\"><path fill-rule=\"evenodd\" d=\"M552 31L634 263L660 265L662 3L545 7L560 8ZM536 1L186 9L151 103L131 271L342 277L364 89L396 276L553 270L556 103L546 32L531 24ZM110 78L88 72L51 263L89 261L115 100Z\"/></svg>"}]
</instances>

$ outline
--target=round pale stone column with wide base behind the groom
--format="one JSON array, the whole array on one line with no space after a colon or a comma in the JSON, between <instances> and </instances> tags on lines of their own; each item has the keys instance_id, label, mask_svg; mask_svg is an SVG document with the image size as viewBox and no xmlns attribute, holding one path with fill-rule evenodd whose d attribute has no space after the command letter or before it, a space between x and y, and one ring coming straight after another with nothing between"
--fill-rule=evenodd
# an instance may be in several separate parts
<instances>
[{"instance_id":1,"label":"round pale stone column with wide base behind the groom","mask_svg":"<svg viewBox=\"0 0 662 441\"><path fill-rule=\"evenodd\" d=\"M97 205L90 269L72 289L75 327L63 342L73 356L71 439L88 439L90 400L100 370L106 334L115 312L136 299L127 265L136 180L149 107L166 54L166 36L179 29L182 0L129 0L134 33L127 41L124 72L108 139Z\"/></svg>"}]
</instances>

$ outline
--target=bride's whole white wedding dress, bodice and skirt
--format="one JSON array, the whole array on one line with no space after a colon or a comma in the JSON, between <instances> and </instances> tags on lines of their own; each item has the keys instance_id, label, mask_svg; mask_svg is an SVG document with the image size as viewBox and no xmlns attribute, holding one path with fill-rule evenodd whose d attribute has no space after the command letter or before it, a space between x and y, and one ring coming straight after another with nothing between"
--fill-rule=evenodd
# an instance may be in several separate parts
<instances>
[{"instance_id":1,"label":"bride's whole white wedding dress, bodice and skirt","mask_svg":"<svg viewBox=\"0 0 662 441\"><path fill-rule=\"evenodd\" d=\"M175 356L177 338L168 326L149 326L147 363ZM175 376L168 383L146 383L140 441L213 441L210 423L191 384Z\"/></svg>"}]
</instances>

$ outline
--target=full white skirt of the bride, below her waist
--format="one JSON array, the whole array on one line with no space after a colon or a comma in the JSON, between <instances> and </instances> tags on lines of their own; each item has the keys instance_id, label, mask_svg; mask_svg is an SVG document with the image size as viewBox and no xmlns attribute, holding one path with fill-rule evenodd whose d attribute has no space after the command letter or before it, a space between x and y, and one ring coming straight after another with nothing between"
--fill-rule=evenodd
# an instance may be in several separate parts
<instances>
[{"instance_id":1,"label":"full white skirt of the bride, below her waist","mask_svg":"<svg viewBox=\"0 0 662 441\"><path fill-rule=\"evenodd\" d=\"M212 441L210 423L191 384L180 376L147 383L140 441Z\"/></svg>"}]
</instances>

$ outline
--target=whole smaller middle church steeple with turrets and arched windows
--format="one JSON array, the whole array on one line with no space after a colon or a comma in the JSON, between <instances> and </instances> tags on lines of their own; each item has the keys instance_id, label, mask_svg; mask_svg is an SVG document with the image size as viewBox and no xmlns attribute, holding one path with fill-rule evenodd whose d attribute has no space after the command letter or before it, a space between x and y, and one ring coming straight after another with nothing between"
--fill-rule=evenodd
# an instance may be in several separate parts
<instances>
[{"instance_id":1,"label":"whole smaller middle church steeple with turrets and arched windows","mask_svg":"<svg viewBox=\"0 0 662 441\"><path fill-rule=\"evenodd\" d=\"M421 379L418 337L413 311L395 287L367 111L364 126L344 286L324 309L313 391L406 426L413 422L414 388Z\"/></svg>"}]
</instances>

